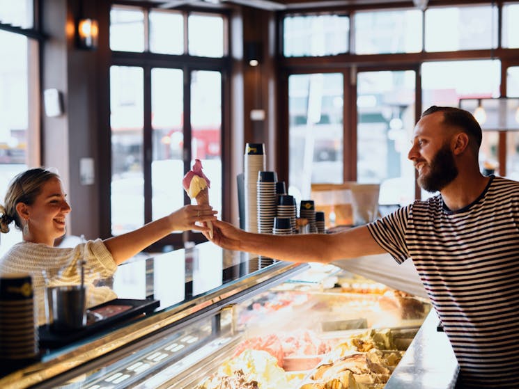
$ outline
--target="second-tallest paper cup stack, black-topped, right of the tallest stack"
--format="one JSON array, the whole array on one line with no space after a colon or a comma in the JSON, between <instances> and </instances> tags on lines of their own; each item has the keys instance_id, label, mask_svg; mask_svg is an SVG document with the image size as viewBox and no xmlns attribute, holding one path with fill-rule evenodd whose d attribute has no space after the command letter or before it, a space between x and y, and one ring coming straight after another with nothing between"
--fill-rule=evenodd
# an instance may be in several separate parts
<instances>
[{"instance_id":1,"label":"second-tallest paper cup stack, black-topped, right of the tallest stack","mask_svg":"<svg viewBox=\"0 0 519 389\"><path fill-rule=\"evenodd\" d=\"M272 234L276 216L276 182L276 172L258 172L258 232L261 234Z\"/></svg>"}]
</instances>

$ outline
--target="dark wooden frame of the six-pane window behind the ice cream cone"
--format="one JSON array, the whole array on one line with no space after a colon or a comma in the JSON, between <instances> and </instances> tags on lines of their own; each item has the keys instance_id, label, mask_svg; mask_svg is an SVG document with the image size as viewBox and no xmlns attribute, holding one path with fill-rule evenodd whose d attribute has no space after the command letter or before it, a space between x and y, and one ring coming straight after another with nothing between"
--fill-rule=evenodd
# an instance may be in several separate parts
<instances>
[{"instance_id":1,"label":"dark wooden frame of the six-pane window behind the ice cream cone","mask_svg":"<svg viewBox=\"0 0 519 389\"><path fill-rule=\"evenodd\" d=\"M222 74L222 125L221 125L221 151L220 156L222 160L222 218L226 218L230 214L230 196L228 196L228 191L231 187L231 180L229 177L224 175L224 166L226 164L231 163L231 156L229 155L229 141L227 140L229 137L226 136L230 134L230 126L226 118L229 117L228 110L229 108L229 100L228 100L228 79L230 79L229 75L231 74L231 57L228 54L229 45L229 36L228 33L228 23L229 23L229 12L227 10L215 11L215 10L199 10L195 8L182 8L179 9L180 13L183 14L184 19L184 54L176 55L176 54L157 54L149 51L149 24L148 24L148 13L150 10L156 9L153 5L143 6L139 5L129 5L128 3L113 1L109 5L109 10L113 6L116 7L131 7L131 8L141 8L144 11L144 24L145 24L145 45L143 52L134 52L134 51L112 51L108 47L109 51L109 61L107 61L107 72L109 72L109 68L111 66L134 66L140 67L144 69L144 138L143 138L143 176L144 176L144 223L149 223L152 221L152 180L151 180L151 162L153 161L153 145L152 145L152 123L151 123L151 70L153 68L166 68L166 69L179 69L184 72L184 84L183 84L183 101L184 101L184 118L191 117L191 74L196 70L209 70L215 71ZM192 56L187 54L187 19L189 14L200 15L201 13L205 13L208 15L219 15L224 18L224 56L221 58L214 57L203 57L203 56ZM109 24L109 22L108 22ZM108 78L109 79L109 78ZM109 111L109 107L105 107L107 111ZM107 171L105 172L105 176L103 180L106 182L104 184L104 190L106 193L111 193L110 191L110 183L111 183L111 140L109 133L111 129L108 130L107 135L107 145L105 146L105 150L109 150L109 155L104 156L103 164L107 166ZM184 149L183 149L183 161L184 161L184 173L187 173L191 168L191 159L192 159L192 150L191 150L191 142L192 142L192 134L190 127L190 120L184 120L183 122L183 133L184 133ZM109 167L109 168L108 168ZM180 186L182 183L178 182ZM110 196L108 197L110 198ZM109 202L108 202L109 203ZM184 192L184 205L191 204L191 199L187 196L187 193ZM107 216L101 220L101 231L103 236L111 237L113 236L111 233L111 206L110 204L105 205ZM171 209L173 212L175 209ZM146 251L157 252L163 251L166 246L173 246L173 248L183 248L185 241L194 241L195 243L200 243L202 241L206 241L206 238L203 237L201 232L193 232L186 231L182 234L173 233L169 234L160 241L155 242L148 248Z\"/></svg>"}]
</instances>

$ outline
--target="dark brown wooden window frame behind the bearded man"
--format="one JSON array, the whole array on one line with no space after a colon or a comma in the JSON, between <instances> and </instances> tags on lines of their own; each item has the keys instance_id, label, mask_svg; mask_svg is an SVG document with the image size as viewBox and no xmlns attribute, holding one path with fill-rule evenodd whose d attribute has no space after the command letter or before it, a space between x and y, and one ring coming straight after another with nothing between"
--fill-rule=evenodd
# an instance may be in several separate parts
<instances>
[{"instance_id":1,"label":"dark brown wooden window frame behind the bearded man","mask_svg":"<svg viewBox=\"0 0 519 389\"><path fill-rule=\"evenodd\" d=\"M506 1L506 3L519 3L519 1ZM422 112L422 98L421 98L421 77L419 69L422 63L428 61L456 61L456 60L471 60L471 59L499 59L501 61L501 85L500 85L500 95L506 95L506 68L508 66L514 65L518 63L517 58L519 58L519 49L504 49L502 48L502 6L503 2L491 2L491 1L454 1L452 3L438 3L435 5L435 8L443 7L443 8L451 8L458 6L481 6L481 5L495 5L497 6L497 47L488 48L488 49L470 49L463 51L435 51L435 52L427 52L424 51L424 43L425 43L425 33L422 36L422 49L417 53L398 53L398 54L352 54L351 52L348 54L338 54L336 56L323 56L323 57L285 57L283 55L283 19L286 15L293 15L293 12L284 12L279 13L278 15L278 24L277 28L279 31L279 38L277 40L277 56L279 59L279 79L281 80L279 99L280 101L284 101L288 98L288 87L285 86L286 80L288 79L288 74L297 74L297 72L310 72L310 70L319 69L334 69L334 70L344 70L351 69L353 73L356 74L357 71L382 71L382 70L415 70L417 73L417 84L416 84L416 97L415 97L415 120L419 120ZM388 3L384 4L384 8L380 8L379 6L369 5L369 6L345 6L345 7L335 7L335 8L327 8L326 10L315 8L312 10L305 10L304 13L319 13L319 12L346 12L350 15L350 51L353 50L352 42L354 41L355 34L355 12L357 10L395 10L401 8L409 8L408 5L404 5L402 3ZM422 17L424 19L424 23L422 24L422 28L425 32L425 13L422 11ZM345 88L346 94L346 88ZM356 95L351 94L350 91L350 102L356 101ZM346 96L345 96L345 105L346 105ZM344 120L344 138L346 139L346 134L350 134L348 137L351 140L350 147L344 148L345 156L350 154L350 156L355 155L355 161L352 161L353 157L349 159L345 157L343 161L343 171L345 172L345 181L346 180L356 180L357 172L356 172L356 152L357 152L357 144L356 139L352 134L355 134L357 127L357 110L355 107L351 108L353 113L351 115L351 120L346 120L348 116L345 113ZM284 133L288 133L288 106L284 107L284 118L279 119L279 132L281 136L284 136ZM355 119L355 120L354 120ZM354 142L355 140L355 142ZM284 175L284 177L288 177L288 135L286 135L286 142L280 143L280 147L277 150L279 158L279 173L280 175ZM501 145L503 144L503 146ZM506 134L500 135L499 141L499 153L502 150L506 150ZM504 152L504 151L503 151ZM506 155L504 157L500 157L499 163L506 166ZM506 170L505 170L506 171ZM348 172L348 174L346 174ZM287 185L289 183L287 182ZM417 199L421 198L421 190L418 184L415 182L415 196Z\"/></svg>"}]
</instances>

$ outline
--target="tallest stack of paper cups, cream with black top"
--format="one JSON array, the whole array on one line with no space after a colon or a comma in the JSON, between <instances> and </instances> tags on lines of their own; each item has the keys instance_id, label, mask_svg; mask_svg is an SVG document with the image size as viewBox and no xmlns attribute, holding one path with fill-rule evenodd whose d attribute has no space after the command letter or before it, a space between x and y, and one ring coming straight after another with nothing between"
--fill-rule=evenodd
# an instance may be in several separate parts
<instances>
[{"instance_id":1,"label":"tallest stack of paper cups, cream with black top","mask_svg":"<svg viewBox=\"0 0 519 389\"><path fill-rule=\"evenodd\" d=\"M258 172L265 170L263 143L245 145L244 183L245 230L258 232Z\"/></svg>"}]
</instances>

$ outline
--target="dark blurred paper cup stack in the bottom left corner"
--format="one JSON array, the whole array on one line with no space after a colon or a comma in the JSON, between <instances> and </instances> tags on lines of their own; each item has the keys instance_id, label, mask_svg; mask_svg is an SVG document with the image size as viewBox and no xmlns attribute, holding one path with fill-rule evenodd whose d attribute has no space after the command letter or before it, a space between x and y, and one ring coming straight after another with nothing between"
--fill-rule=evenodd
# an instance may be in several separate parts
<instances>
[{"instance_id":1,"label":"dark blurred paper cup stack in the bottom left corner","mask_svg":"<svg viewBox=\"0 0 519 389\"><path fill-rule=\"evenodd\" d=\"M32 278L29 274L0 277L0 360L22 367L39 354ZM2 370L3 370L2 368Z\"/></svg>"}]
</instances>

